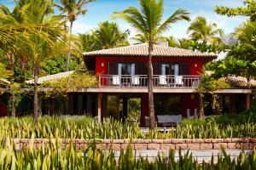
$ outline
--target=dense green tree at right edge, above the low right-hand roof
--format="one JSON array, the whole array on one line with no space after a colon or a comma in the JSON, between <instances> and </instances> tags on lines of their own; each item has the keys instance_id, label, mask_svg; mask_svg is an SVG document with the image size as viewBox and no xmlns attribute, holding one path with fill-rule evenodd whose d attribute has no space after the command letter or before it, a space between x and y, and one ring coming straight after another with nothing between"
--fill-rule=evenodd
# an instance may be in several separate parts
<instances>
[{"instance_id":1,"label":"dense green tree at right edge, above the low right-hand roof","mask_svg":"<svg viewBox=\"0 0 256 170\"><path fill-rule=\"evenodd\" d=\"M236 37L238 44L230 50L229 60L222 67L231 69L230 74L247 77L249 87L251 77L256 76L256 21L247 20L236 28L231 37Z\"/></svg>"}]
</instances>

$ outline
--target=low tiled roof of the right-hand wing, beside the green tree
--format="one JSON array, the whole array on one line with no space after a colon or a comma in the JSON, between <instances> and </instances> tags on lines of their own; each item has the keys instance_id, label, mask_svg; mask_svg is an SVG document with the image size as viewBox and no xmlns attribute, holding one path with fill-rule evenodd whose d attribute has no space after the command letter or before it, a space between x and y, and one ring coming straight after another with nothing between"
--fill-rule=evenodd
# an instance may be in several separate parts
<instances>
[{"instance_id":1,"label":"low tiled roof of the right-hand wing, beside the green tree","mask_svg":"<svg viewBox=\"0 0 256 170\"><path fill-rule=\"evenodd\" d=\"M229 83L233 88L247 88L247 78L245 77L223 77L221 80L224 80L224 82ZM256 88L256 81L250 80L249 87Z\"/></svg>"}]
</instances>

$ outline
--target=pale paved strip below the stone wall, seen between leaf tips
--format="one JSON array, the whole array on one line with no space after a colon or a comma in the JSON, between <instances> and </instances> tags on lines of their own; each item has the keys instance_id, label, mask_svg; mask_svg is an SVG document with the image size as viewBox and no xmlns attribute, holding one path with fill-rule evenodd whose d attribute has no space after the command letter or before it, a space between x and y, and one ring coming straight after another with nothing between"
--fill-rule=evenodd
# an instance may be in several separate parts
<instances>
[{"instance_id":1,"label":"pale paved strip below the stone wall, seen between leaf tips","mask_svg":"<svg viewBox=\"0 0 256 170\"><path fill-rule=\"evenodd\" d=\"M182 156L184 156L185 153L187 153L188 150L181 150ZM253 150L245 150L246 155L248 155ZM120 151L114 150L113 151L115 156L118 158ZM231 160L236 159L240 154L241 150L226 150L227 154L230 155ZM204 161L211 161L213 156L213 161L218 161L218 155L221 155L221 150L189 150L192 156L197 160L198 162ZM148 156L149 161L153 161L156 156L168 156L169 150L133 150L133 156L138 158L139 156L146 157ZM178 159L178 150L175 151L175 159Z\"/></svg>"}]
</instances>

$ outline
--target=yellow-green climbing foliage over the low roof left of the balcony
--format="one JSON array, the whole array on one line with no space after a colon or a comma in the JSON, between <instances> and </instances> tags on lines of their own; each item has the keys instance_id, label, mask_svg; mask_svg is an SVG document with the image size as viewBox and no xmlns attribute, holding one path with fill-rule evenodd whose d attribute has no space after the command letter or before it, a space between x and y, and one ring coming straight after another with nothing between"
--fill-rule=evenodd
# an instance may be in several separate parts
<instances>
[{"instance_id":1,"label":"yellow-green climbing foliage over the low roof left of the balcony","mask_svg":"<svg viewBox=\"0 0 256 170\"><path fill-rule=\"evenodd\" d=\"M75 71L68 77L45 81L41 84L43 88L52 88L51 92L56 94L77 92L83 88L96 88L97 86L97 77L90 76L87 71Z\"/></svg>"}]
</instances>

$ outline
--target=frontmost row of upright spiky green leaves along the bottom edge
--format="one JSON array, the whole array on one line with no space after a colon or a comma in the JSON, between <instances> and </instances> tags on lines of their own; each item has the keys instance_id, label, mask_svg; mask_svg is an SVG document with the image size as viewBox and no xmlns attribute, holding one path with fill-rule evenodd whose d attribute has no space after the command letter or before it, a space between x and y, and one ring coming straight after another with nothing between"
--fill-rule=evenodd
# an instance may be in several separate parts
<instances>
[{"instance_id":1,"label":"frontmost row of upright spiky green leaves along the bottom edge","mask_svg":"<svg viewBox=\"0 0 256 170\"><path fill-rule=\"evenodd\" d=\"M218 155L218 162L212 161L202 163L195 160L189 151L182 156L179 150L178 159L175 152L169 150L168 156L157 156L152 161L148 157L135 157L131 144L127 149L120 150L117 158L113 150L96 150L95 144L90 144L86 150L76 150L74 144L70 147L61 148L58 139L56 142L50 141L42 147L36 149L34 145L29 146L27 150L15 150L15 144L1 144L0 160L1 169L140 169L140 170L158 170L158 169L198 169L198 170L222 170L222 169L255 169L256 150L253 150L247 156L242 151L240 156L232 160L226 151L222 149Z\"/></svg>"}]
</instances>

